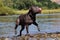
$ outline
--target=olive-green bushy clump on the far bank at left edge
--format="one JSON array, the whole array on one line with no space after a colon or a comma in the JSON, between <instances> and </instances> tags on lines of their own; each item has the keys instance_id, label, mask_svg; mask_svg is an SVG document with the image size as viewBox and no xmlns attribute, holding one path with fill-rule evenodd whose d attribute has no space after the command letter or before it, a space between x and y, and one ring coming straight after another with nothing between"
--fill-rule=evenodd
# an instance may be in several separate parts
<instances>
[{"instance_id":1,"label":"olive-green bushy clump on the far bank at left edge","mask_svg":"<svg viewBox=\"0 0 60 40\"><path fill-rule=\"evenodd\" d=\"M15 10L6 6L0 7L0 15L6 14L6 15L12 15L15 14Z\"/></svg>"}]
</instances>

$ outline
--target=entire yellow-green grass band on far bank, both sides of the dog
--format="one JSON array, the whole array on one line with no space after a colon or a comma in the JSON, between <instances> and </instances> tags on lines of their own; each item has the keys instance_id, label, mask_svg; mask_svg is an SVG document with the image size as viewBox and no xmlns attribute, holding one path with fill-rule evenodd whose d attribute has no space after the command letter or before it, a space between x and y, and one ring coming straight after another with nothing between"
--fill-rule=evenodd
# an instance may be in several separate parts
<instances>
[{"instance_id":1,"label":"entire yellow-green grass band on far bank, both sides of the dog","mask_svg":"<svg viewBox=\"0 0 60 40\"><path fill-rule=\"evenodd\" d=\"M0 7L0 14L6 15L16 15L16 14L26 14L29 10L16 10L9 7ZM42 14L53 14L53 13L60 13L60 9L43 9Z\"/></svg>"}]
</instances>

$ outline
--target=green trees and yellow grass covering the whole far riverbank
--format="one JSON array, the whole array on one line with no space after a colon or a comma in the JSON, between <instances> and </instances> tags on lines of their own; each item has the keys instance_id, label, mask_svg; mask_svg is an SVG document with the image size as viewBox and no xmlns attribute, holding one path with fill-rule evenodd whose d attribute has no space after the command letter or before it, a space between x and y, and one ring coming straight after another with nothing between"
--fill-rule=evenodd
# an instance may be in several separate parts
<instances>
[{"instance_id":1,"label":"green trees and yellow grass covering the whole far riverbank","mask_svg":"<svg viewBox=\"0 0 60 40\"><path fill-rule=\"evenodd\" d=\"M50 0L0 0L0 15L25 14L32 5L41 7L42 13L60 13L60 5Z\"/></svg>"}]
</instances>

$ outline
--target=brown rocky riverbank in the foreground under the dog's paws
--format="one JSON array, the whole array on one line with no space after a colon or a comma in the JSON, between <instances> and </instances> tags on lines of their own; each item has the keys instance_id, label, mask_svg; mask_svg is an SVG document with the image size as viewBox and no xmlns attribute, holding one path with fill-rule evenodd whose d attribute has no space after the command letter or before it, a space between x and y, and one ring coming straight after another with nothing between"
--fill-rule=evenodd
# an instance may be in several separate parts
<instances>
[{"instance_id":1,"label":"brown rocky riverbank in the foreground under the dog's paws","mask_svg":"<svg viewBox=\"0 0 60 40\"><path fill-rule=\"evenodd\" d=\"M0 40L59 40L60 34L57 33L44 33L34 35L22 35L21 37L0 37Z\"/></svg>"}]
</instances>

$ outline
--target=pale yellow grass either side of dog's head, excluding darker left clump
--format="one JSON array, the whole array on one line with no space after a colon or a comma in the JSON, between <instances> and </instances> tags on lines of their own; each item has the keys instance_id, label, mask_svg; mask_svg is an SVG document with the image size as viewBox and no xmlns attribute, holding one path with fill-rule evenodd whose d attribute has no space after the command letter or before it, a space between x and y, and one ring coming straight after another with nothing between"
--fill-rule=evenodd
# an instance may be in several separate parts
<instances>
[{"instance_id":1,"label":"pale yellow grass either side of dog's head, excluding darker left clump","mask_svg":"<svg viewBox=\"0 0 60 40\"><path fill-rule=\"evenodd\" d=\"M26 14L28 10L16 10L15 14ZM53 14L53 13L60 13L60 9L46 9L42 10L42 14Z\"/></svg>"}]
</instances>

